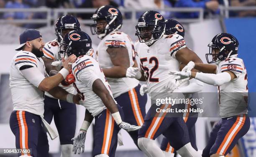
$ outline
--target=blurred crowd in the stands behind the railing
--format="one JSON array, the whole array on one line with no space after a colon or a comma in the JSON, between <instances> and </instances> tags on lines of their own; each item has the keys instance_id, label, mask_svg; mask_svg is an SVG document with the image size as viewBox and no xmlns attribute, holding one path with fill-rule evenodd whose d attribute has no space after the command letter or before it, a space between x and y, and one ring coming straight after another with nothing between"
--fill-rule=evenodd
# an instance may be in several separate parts
<instances>
[{"instance_id":1,"label":"blurred crowd in the stands behind the railing","mask_svg":"<svg viewBox=\"0 0 256 157\"><path fill-rule=\"evenodd\" d=\"M219 5L255 6L256 0L0 0L0 8L99 8L113 5L118 8L161 10L163 8L203 8L207 14L220 14ZM161 12L165 18L198 18L199 13ZM136 16L138 17L140 13ZM255 16L255 11L230 12L230 16ZM81 19L90 19L92 13L79 13ZM125 14L130 18L131 14ZM46 13L0 12L0 19L45 19Z\"/></svg>"}]
</instances>

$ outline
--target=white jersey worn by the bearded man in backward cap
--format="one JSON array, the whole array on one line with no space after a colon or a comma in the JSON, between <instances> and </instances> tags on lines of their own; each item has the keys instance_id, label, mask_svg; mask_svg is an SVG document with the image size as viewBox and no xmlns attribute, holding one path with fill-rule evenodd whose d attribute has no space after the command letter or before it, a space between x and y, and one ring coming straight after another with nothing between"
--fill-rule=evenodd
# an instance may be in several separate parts
<instances>
[{"instance_id":1,"label":"white jersey worn by the bearded man in backward cap","mask_svg":"<svg viewBox=\"0 0 256 157\"><path fill-rule=\"evenodd\" d=\"M21 66L33 66L45 76L44 61L28 51L18 52L10 66L10 89L13 100L13 110L28 111L44 115L44 91L31 84L20 72Z\"/></svg>"}]
</instances>

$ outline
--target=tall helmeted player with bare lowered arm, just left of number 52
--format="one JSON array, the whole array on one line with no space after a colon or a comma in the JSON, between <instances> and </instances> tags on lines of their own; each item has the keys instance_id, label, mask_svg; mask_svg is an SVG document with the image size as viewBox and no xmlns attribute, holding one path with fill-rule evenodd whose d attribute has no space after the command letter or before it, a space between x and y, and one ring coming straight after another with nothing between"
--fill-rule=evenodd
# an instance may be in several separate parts
<instances>
[{"instance_id":1,"label":"tall helmeted player with bare lowered arm, just left of number 52","mask_svg":"<svg viewBox=\"0 0 256 157\"><path fill-rule=\"evenodd\" d=\"M110 84L115 100L124 111L124 121L142 126L146 115L147 96L139 94L141 86L138 80L125 75L129 66L138 65L131 38L118 31L123 25L122 14L118 8L106 5L95 11L92 20L95 21L91 26L92 34L97 34L101 39L96 60ZM128 134L138 147L138 131Z\"/></svg>"}]
</instances>

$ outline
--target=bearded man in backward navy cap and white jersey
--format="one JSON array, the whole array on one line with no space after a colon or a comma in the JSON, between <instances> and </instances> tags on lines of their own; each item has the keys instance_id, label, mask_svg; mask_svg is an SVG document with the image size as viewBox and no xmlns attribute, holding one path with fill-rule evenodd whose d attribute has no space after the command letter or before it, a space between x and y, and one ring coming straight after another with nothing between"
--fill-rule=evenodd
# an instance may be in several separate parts
<instances>
[{"instance_id":1,"label":"bearded man in backward navy cap and white jersey","mask_svg":"<svg viewBox=\"0 0 256 157\"><path fill-rule=\"evenodd\" d=\"M41 58L44 55L43 47L44 42L38 30L25 30L20 34L20 46L15 49L22 51L11 62L10 88L14 107L10 115L10 128L15 135L16 148L24 149L18 153L21 157L49 157L47 135L42 124L52 139L57 137L43 118L44 91L69 103L79 103L79 96L75 97L58 87L69 74L69 64L77 57L73 55L66 61L63 59L64 68L54 76L45 77L44 61Z\"/></svg>"}]
</instances>

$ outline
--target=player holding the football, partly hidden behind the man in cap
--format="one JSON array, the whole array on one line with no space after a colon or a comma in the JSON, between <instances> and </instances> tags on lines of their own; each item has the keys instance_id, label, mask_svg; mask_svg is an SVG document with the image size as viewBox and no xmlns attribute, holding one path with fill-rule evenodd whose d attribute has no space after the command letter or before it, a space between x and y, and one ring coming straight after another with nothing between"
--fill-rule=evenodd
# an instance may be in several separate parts
<instances>
[{"instance_id":1,"label":"player holding the football, partly hidden behind the man in cap","mask_svg":"<svg viewBox=\"0 0 256 157\"><path fill-rule=\"evenodd\" d=\"M62 54L61 56L58 56L58 48L64 35L71 30L80 30L80 24L76 17L72 15L63 15L58 18L55 24L55 34L57 38L46 43L43 48L44 57L42 57L42 59L44 60L46 71L49 76L56 75L62 68L60 62ZM56 66L52 66L52 62L54 62ZM62 81L59 86L69 93L74 93L75 89L72 85L73 82L74 76L69 74L67 79ZM53 117L59 133L61 157L72 157L73 142L71 139L74 137L76 129L76 105L70 104L67 101L56 99L54 96L46 92L44 99L44 119L46 119L46 121L50 124Z\"/></svg>"}]
</instances>

